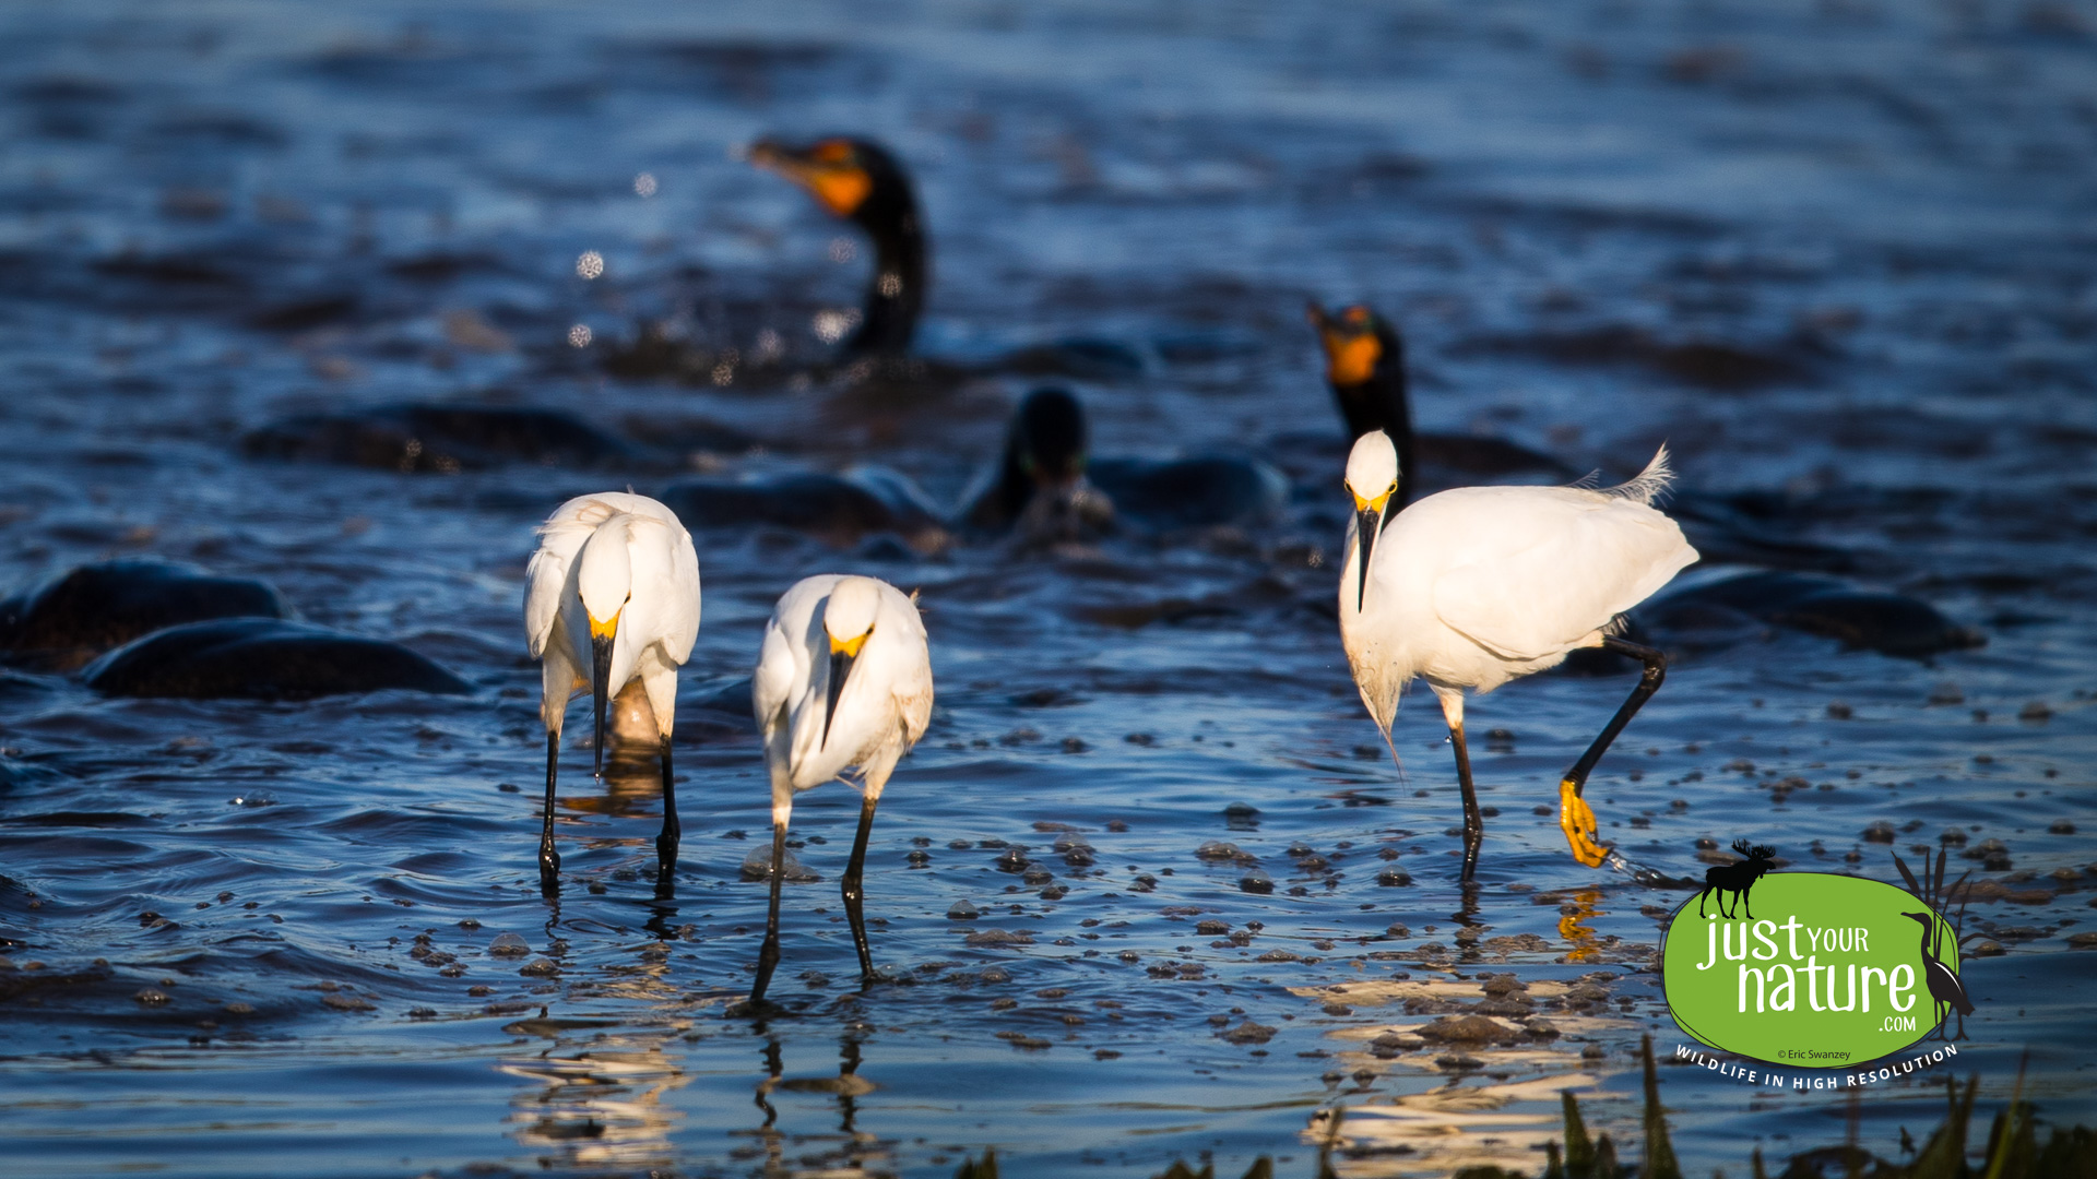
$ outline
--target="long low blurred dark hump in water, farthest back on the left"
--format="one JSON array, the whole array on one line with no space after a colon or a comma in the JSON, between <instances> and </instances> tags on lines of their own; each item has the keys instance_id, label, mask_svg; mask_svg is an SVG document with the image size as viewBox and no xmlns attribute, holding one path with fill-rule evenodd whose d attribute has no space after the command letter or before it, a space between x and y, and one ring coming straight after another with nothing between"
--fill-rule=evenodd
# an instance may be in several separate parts
<instances>
[{"instance_id":1,"label":"long low blurred dark hump in water, farthest back on the left","mask_svg":"<svg viewBox=\"0 0 2097 1179\"><path fill-rule=\"evenodd\" d=\"M241 449L254 457L438 474L514 462L589 468L644 457L640 447L564 409L507 405L304 413L250 432Z\"/></svg>"}]
</instances>

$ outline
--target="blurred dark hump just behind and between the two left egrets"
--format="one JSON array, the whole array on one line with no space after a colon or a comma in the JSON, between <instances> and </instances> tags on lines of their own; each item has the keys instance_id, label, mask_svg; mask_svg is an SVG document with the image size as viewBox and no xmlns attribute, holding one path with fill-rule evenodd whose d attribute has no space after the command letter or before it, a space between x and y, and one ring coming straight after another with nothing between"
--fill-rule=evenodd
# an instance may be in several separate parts
<instances>
[{"instance_id":1,"label":"blurred dark hump just behind and between the two left egrets","mask_svg":"<svg viewBox=\"0 0 2097 1179\"><path fill-rule=\"evenodd\" d=\"M921 554L948 543L946 527L923 493L904 476L879 468L751 480L690 478L663 489L661 499L688 529L770 524L839 548L893 533Z\"/></svg>"}]
</instances>

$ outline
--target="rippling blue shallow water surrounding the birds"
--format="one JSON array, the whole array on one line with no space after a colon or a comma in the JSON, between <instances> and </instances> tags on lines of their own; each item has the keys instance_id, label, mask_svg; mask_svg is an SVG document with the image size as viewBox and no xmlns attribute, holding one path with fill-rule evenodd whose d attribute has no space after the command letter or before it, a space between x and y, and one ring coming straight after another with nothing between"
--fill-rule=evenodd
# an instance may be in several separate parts
<instances>
[{"instance_id":1,"label":"rippling blue shallow water surrounding the birds","mask_svg":"<svg viewBox=\"0 0 2097 1179\"><path fill-rule=\"evenodd\" d=\"M1439 717L1424 696L1401 715L1399 776L1334 636L1340 436L1306 296L1407 327L1428 428L1615 472L1665 438L1684 487L1753 493L1852 550L1862 581L1984 629L1933 663L1797 634L1684 652L1590 797L1669 875L1701 873L1696 839L1879 879L1875 822L1904 854L1963 831L1954 875L2001 839L2013 866L1975 875L2026 900L1969 919L2007 952L1967 963L1959 1072L1998 1106L2030 1047L2042 1114L2097 1120L2089 959L2066 940L2097 831L2093 27L2074 6L1868 0L10 10L0 579L195 560L480 686L254 705L0 678L13 1166L946 1175L996 1145L1015 1173L1208 1152L1225 1173L1277 1154L1288 1175L1311 1173L1315 1114L1342 1103L1365 1110L1342 1175L1535 1169L1560 1085L1629 1131L1638 1034L1682 1041L1650 973L1655 913L1680 894L1575 866L1531 812L1629 680L1545 676L1472 705L1476 732L1512 738L1476 749L1497 814L1466 900ZM1329 438L1273 451L1302 501L1252 533L937 558L698 537L677 896L646 879L652 768L598 787L572 751L549 906L516 621L531 527L673 472L403 476L245 459L239 436L503 399L644 443L694 417L765 441L696 470L883 462L954 501L1023 380L870 403L734 371L602 376L644 319L713 355L755 352L761 329L818 355L812 315L856 298L864 245L730 151L824 128L877 132L918 172L933 357L1061 336L1143 352L1141 378L1082 386L1101 453ZM589 346L568 344L577 325ZM1594 344L1636 334L1738 348L1759 376ZM828 569L923 590L933 636L939 707L868 860L898 984L851 986L835 879L856 799L822 789L795 812L822 877L786 892L776 994L797 1011L753 1026L726 1007L763 925L740 864L765 789L749 722L709 705L778 592ZM1770 789L1787 778L1814 789ZM2082 833L2049 833L2063 822ZM1095 866L1055 852L1065 833ZM1275 892L1197 858L1212 839ZM1067 896L996 871L986 841L1028 845ZM1325 869L1300 869L1296 841ZM1411 885L1378 885L1382 852ZM956 900L983 915L950 921ZM1262 925L1239 946L1199 919ZM1032 940L971 946L986 929ZM528 952L493 955L497 934ZM1545 1003L1604 973L1608 999L1451 1072L1363 1051L1424 1022L1403 1001L1426 990L1363 988L1392 971L1445 996L1514 971ZM1248 1020L1275 1034L1218 1036ZM1837 1095L1663 1078L1692 1173L1843 1135ZM1407 1137L1420 1108L1483 1120ZM1910 1080L1866 1101L1860 1133L1894 1156L1900 1127L1938 1116Z\"/></svg>"}]
</instances>

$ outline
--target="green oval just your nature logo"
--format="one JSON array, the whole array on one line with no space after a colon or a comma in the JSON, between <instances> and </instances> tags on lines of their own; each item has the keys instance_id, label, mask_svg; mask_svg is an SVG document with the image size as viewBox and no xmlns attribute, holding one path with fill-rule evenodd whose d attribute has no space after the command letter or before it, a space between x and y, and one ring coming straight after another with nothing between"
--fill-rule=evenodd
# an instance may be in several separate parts
<instances>
[{"instance_id":1,"label":"green oval just your nature logo","mask_svg":"<svg viewBox=\"0 0 2097 1179\"><path fill-rule=\"evenodd\" d=\"M1942 990L1946 971L1957 980L1959 938L1889 883L1770 873L1747 904L1713 892L1676 910L1661 969L1669 1013L1699 1043L1787 1068L1847 1068L1936 1030L1929 984L1936 976Z\"/></svg>"}]
</instances>

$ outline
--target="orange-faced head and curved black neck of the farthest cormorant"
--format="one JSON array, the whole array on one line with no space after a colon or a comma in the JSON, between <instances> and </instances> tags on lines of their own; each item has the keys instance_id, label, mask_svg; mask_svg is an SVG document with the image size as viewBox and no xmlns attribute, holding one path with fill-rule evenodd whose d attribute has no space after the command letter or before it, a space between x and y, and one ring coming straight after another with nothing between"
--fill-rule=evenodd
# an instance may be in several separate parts
<instances>
[{"instance_id":1,"label":"orange-faced head and curved black neck of the farthest cormorant","mask_svg":"<svg viewBox=\"0 0 2097 1179\"><path fill-rule=\"evenodd\" d=\"M835 218L874 239L874 275L866 285L860 325L845 340L849 355L898 355L910 348L925 308L925 233L916 193L902 164L879 143L830 136L805 147L761 138L751 164L807 189Z\"/></svg>"}]
</instances>

